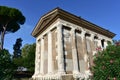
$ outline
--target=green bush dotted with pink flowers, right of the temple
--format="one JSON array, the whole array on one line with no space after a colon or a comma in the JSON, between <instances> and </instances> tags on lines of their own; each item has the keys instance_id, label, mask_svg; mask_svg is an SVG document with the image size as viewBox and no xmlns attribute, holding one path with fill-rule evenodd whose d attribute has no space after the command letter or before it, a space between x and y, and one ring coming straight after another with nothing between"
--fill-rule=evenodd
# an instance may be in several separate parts
<instances>
[{"instance_id":1,"label":"green bush dotted with pink flowers, right of the temple","mask_svg":"<svg viewBox=\"0 0 120 80\"><path fill-rule=\"evenodd\" d=\"M109 45L95 55L92 80L120 80L120 45Z\"/></svg>"}]
</instances>

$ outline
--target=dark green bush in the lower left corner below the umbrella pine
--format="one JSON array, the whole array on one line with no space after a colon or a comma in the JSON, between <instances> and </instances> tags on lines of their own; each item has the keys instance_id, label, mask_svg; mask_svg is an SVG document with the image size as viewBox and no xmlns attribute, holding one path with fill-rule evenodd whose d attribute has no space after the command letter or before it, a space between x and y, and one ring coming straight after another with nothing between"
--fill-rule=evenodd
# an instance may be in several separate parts
<instances>
[{"instance_id":1,"label":"dark green bush in the lower left corner below the umbrella pine","mask_svg":"<svg viewBox=\"0 0 120 80\"><path fill-rule=\"evenodd\" d=\"M15 65L8 50L0 51L0 80L12 80Z\"/></svg>"}]
</instances>

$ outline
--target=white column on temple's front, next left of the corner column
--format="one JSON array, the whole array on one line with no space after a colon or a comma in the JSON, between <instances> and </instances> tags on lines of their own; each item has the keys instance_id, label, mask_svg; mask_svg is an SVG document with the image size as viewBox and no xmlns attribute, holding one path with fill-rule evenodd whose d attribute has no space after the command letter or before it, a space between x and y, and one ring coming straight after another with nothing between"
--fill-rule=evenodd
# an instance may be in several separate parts
<instances>
[{"instance_id":1,"label":"white column on temple's front, next left of the corner column","mask_svg":"<svg viewBox=\"0 0 120 80\"><path fill-rule=\"evenodd\" d=\"M48 33L48 74L53 72L52 62L52 33Z\"/></svg>"}]
</instances>

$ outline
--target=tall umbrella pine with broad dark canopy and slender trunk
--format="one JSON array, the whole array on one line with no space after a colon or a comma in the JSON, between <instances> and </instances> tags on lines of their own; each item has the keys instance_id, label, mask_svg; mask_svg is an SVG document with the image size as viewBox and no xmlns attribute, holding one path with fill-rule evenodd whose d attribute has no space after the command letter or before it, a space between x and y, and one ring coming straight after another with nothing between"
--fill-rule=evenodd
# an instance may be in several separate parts
<instances>
[{"instance_id":1,"label":"tall umbrella pine with broad dark canopy and slender trunk","mask_svg":"<svg viewBox=\"0 0 120 80\"><path fill-rule=\"evenodd\" d=\"M1 49L3 49L5 34L16 32L24 22L25 17L18 9L0 6Z\"/></svg>"}]
</instances>

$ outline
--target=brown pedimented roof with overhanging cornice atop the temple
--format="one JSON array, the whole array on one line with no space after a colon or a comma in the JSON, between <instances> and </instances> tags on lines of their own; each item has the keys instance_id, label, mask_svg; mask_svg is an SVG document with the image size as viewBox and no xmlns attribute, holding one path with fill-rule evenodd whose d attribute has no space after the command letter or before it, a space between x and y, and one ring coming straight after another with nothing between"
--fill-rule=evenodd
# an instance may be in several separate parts
<instances>
[{"instance_id":1,"label":"brown pedimented roof with overhanging cornice atop the temple","mask_svg":"<svg viewBox=\"0 0 120 80\"><path fill-rule=\"evenodd\" d=\"M96 33L105 35L109 38L113 38L116 35L113 32L110 32L109 30L106 30L96 24L93 24L81 17L78 17L57 7L40 18L32 32L32 36L37 37L58 18L76 24L78 26L84 27Z\"/></svg>"}]
</instances>

